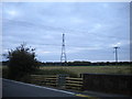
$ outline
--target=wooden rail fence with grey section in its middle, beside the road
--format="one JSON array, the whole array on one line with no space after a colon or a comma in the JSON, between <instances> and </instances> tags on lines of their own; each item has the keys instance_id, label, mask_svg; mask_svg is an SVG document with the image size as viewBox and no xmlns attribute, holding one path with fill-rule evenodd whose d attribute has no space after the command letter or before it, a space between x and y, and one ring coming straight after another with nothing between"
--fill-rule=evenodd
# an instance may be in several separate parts
<instances>
[{"instance_id":1,"label":"wooden rail fence with grey section in its middle, beside the road","mask_svg":"<svg viewBox=\"0 0 132 99\"><path fill-rule=\"evenodd\" d=\"M72 78L65 75L31 75L32 82L36 85L46 85L54 87L63 87L66 89L82 90L82 78Z\"/></svg>"}]
</instances>

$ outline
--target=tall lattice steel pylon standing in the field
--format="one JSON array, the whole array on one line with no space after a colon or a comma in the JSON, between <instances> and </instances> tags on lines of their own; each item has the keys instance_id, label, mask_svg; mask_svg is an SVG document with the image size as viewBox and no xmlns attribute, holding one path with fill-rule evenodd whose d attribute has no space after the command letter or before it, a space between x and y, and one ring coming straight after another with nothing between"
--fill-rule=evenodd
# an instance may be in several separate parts
<instances>
[{"instance_id":1,"label":"tall lattice steel pylon standing in the field","mask_svg":"<svg viewBox=\"0 0 132 99\"><path fill-rule=\"evenodd\" d=\"M63 44L62 44L61 64L62 64L62 66L66 66L66 65L67 65L66 51L65 51L65 34L64 34L64 33L63 33Z\"/></svg>"}]
</instances>

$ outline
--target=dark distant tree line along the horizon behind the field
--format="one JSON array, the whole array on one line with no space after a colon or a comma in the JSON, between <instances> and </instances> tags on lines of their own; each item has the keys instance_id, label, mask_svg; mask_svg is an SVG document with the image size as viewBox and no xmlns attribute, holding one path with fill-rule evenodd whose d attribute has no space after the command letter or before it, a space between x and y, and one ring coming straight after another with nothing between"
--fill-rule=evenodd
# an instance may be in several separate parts
<instances>
[{"instance_id":1,"label":"dark distant tree line along the horizon behind the field","mask_svg":"<svg viewBox=\"0 0 132 99\"><path fill-rule=\"evenodd\" d=\"M7 66L9 63L9 61L4 61L2 62L3 66ZM80 61L75 61L75 62L67 62L66 63L67 66L111 66L111 65L119 65L119 66L123 66L123 65L132 65L132 62L118 62L118 64L116 62L80 62ZM61 66L62 63L61 62L38 62L40 66Z\"/></svg>"}]
</instances>

